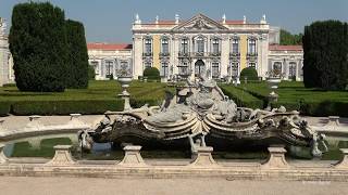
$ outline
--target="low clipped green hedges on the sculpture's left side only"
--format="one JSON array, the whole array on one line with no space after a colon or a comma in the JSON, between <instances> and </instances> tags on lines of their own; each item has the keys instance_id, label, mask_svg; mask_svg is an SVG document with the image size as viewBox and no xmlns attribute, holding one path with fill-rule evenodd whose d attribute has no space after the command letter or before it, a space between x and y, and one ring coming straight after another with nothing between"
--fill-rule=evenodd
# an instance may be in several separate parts
<instances>
[{"instance_id":1,"label":"low clipped green hedges on the sculpture's left side only","mask_svg":"<svg viewBox=\"0 0 348 195\"><path fill-rule=\"evenodd\" d=\"M66 115L70 113L102 114L122 110L123 100L117 81L90 81L88 89L67 89L65 92L21 92L16 87L0 88L0 114ZM164 98L165 83L133 81L130 103L138 107L146 102L159 105ZM173 89L171 89L173 91Z\"/></svg>"}]
</instances>

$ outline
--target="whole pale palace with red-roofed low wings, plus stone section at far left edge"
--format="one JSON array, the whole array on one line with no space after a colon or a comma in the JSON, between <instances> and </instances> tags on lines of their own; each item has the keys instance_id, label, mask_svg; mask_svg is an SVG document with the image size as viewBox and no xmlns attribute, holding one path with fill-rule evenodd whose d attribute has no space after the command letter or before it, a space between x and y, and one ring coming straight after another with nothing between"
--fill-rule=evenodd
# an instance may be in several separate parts
<instances>
[{"instance_id":1,"label":"whole pale palace with red-roofed low wings, plus stone section at far left edge","mask_svg":"<svg viewBox=\"0 0 348 195\"><path fill-rule=\"evenodd\" d=\"M5 21L0 17L0 86L14 82ZM157 67L163 80L204 74L210 78L238 79L246 67L254 67L260 78L278 69L284 79L302 80L301 46L279 46L279 27L270 26L263 15L257 23L231 21L225 15L212 20L198 14L189 20L144 23L136 15L129 43L88 43L88 62L96 79L117 78L127 70L134 79L146 67Z\"/></svg>"}]
</instances>

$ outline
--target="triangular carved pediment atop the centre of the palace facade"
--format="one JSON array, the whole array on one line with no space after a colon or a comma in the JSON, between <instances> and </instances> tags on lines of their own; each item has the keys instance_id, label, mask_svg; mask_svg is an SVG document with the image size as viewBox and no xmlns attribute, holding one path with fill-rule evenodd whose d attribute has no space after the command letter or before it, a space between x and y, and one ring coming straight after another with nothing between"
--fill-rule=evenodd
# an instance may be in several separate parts
<instances>
[{"instance_id":1,"label":"triangular carved pediment atop the centre of the palace facade","mask_svg":"<svg viewBox=\"0 0 348 195\"><path fill-rule=\"evenodd\" d=\"M225 26L219 24L214 20L207 17L203 14L198 14L185 23L176 26L173 30L219 30L227 29Z\"/></svg>"}]
</instances>

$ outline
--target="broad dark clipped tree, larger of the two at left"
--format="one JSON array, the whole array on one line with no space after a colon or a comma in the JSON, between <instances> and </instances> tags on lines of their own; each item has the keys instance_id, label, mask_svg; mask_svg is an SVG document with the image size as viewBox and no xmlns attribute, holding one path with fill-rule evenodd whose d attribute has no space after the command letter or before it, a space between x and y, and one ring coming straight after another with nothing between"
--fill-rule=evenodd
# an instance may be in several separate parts
<instances>
[{"instance_id":1,"label":"broad dark clipped tree, larger of the two at left","mask_svg":"<svg viewBox=\"0 0 348 195\"><path fill-rule=\"evenodd\" d=\"M21 91L64 91L66 36L64 12L45 2L16 4L9 42Z\"/></svg>"}]
</instances>

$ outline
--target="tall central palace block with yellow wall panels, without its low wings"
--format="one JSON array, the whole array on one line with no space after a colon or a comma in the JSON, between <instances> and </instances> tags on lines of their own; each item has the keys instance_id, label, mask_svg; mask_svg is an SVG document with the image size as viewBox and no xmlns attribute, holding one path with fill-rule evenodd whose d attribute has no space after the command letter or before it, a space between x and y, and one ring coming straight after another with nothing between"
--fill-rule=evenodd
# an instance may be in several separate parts
<instances>
[{"instance_id":1,"label":"tall central palace block with yellow wall panels, without its low wings","mask_svg":"<svg viewBox=\"0 0 348 195\"><path fill-rule=\"evenodd\" d=\"M175 21L157 17L153 23L141 23L136 15L132 30L134 78L153 66L164 78L206 74L215 79L239 77L241 69L254 67L264 79L276 58L270 58L276 50L270 51L270 44L279 41L279 28L271 27L264 15L258 23L245 16L229 21L225 15L214 21L203 14L187 21L175 15Z\"/></svg>"}]
</instances>

